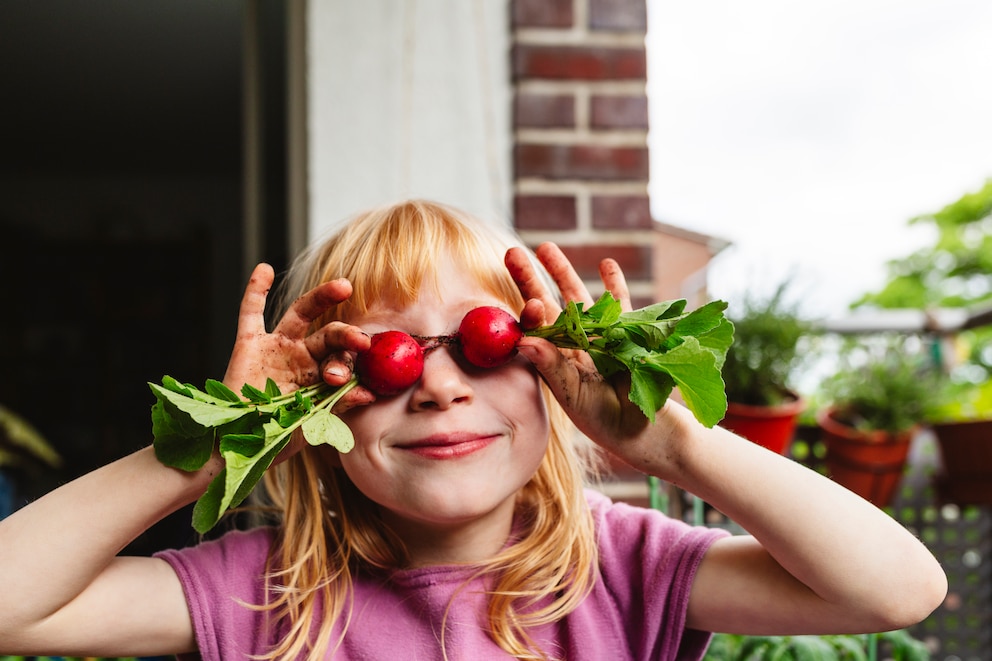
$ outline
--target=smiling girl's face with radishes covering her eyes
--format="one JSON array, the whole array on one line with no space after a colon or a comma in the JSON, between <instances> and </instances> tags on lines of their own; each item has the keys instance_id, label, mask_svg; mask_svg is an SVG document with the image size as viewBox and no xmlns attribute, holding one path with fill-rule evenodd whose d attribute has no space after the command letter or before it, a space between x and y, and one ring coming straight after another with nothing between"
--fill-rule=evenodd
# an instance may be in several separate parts
<instances>
[{"instance_id":1,"label":"smiling girl's face with radishes covering her eyes","mask_svg":"<svg viewBox=\"0 0 992 661\"><path fill-rule=\"evenodd\" d=\"M440 297L424 287L409 307L377 307L350 321L369 334L447 335L472 308L506 307L450 266L438 281ZM342 467L391 523L408 530L457 529L488 519L508 526L516 493L548 444L547 411L530 363L518 356L480 369L450 346L426 354L423 376L411 388L343 418L355 447L340 455Z\"/></svg>"}]
</instances>

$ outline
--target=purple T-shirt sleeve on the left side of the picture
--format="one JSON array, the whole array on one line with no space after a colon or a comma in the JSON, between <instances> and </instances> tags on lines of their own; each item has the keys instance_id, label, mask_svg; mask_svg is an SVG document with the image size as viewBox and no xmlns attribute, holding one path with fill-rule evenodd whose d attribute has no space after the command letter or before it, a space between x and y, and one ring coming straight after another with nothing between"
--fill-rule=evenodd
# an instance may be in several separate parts
<instances>
[{"instance_id":1,"label":"purple T-shirt sleeve on the left side of the picture","mask_svg":"<svg viewBox=\"0 0 992 661\"><path fill-rule=\"evenodd\" d=\"M264 573L271 528L235 530L181 550L155 554L179 577L196 635L199 657L206 661L244 659L266 651L259 635L264 613L250 605L264 603Z\"/></svg>"}]
</instances>

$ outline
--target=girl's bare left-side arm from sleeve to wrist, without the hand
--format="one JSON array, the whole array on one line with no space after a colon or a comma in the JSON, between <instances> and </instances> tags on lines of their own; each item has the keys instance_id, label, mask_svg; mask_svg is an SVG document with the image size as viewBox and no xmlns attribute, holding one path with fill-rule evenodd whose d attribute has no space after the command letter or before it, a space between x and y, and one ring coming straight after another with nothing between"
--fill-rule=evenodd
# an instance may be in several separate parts
<instances>
[{"instance_id":1,"label":"girl's bare left-side arm from sleeve to wrist, without the hand","mask_svg":"<svg viewBox=\"0 0 992 661\"><path fill-rule=\"evenodd\" d=\"M151 448L66 484L0 521L0 653L172 654L195 649L179 580L164 561L117 554L206 489Z\"/></svg>"}]
</instances>

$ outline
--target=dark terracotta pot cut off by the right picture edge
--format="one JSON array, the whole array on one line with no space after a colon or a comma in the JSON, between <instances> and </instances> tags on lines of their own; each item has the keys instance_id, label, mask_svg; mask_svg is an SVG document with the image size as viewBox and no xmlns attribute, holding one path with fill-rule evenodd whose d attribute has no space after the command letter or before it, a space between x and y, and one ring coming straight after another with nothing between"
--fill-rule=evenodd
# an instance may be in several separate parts
<instances>
[{"instance_id":1,"label":"dark terracotta pot cut off by the right picture edge","mask_svg":"<svg viewBox=\"0 0 992 661\"><path fill-rule=\"evenodd\" d=\"M933 425L940 447L940 499L958 505L992 504L992 420Z\"/></svg>"}]
</instances>

